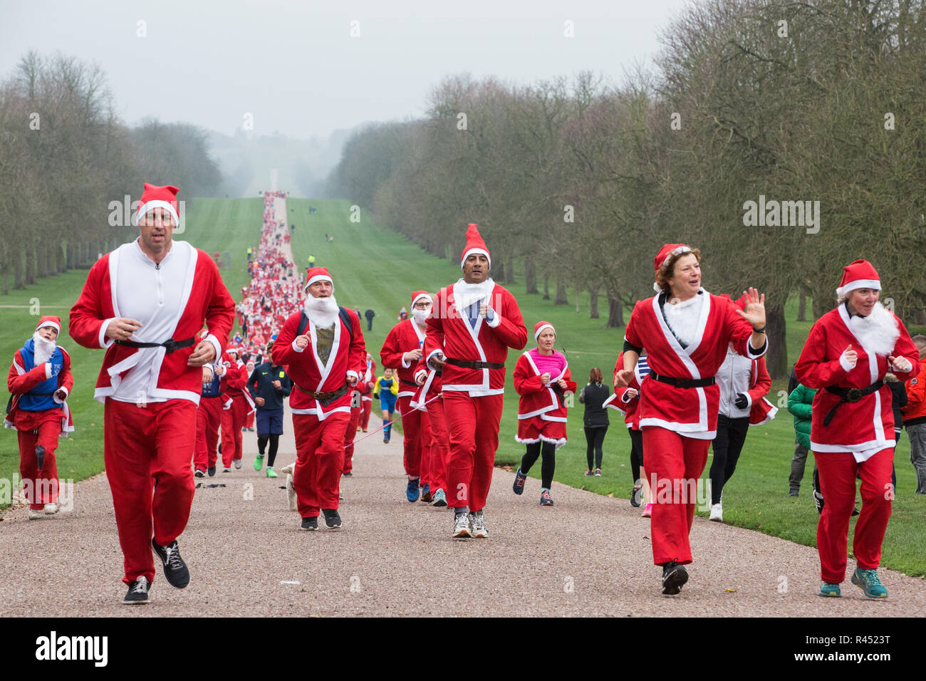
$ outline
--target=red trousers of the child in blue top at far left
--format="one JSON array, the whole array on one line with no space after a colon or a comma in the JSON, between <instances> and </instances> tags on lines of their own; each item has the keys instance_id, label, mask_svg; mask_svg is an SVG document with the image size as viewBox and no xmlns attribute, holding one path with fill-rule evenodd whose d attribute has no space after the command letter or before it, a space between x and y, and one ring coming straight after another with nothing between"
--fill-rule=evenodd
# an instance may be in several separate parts
<instances>
[{"instance_id":1,"label":"red trousers of the child in blue top at far left","mask_svg":"<svg viewBox=\"0 0 926 681\"><path fill-rule=\"evenodd\" d=\"M61 434L61 410L16 411L16 430L19 435L19 477L29 508L38 511L45 504L56 504L58 498L57 461L55 448ZM43 468L35 448L45 448Z\"/></svg>"}]
</instances>

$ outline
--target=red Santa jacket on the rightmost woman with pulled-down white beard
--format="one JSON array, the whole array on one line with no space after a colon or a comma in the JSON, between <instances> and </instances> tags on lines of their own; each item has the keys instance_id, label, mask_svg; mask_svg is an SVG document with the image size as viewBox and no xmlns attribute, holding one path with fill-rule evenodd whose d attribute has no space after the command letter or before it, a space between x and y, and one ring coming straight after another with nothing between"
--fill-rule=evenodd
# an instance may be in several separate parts
<instances>
[{"instance_id":1,"label":"red Santa jacket on the rightmost woman with pulled-down white beard","mask_svg":"<svg viewBox=\"0 0 926 681\"><path fill-rule=\"evenodd\" d=\"M888 355L865 347L850 330L845 304L824 314L810 329L795 373L803 385L818 388L810 421L810 448L814 452L847 451L856 454L857 460L865 460L881 449L895 446L891 388L887 385L857 402L840 404L832 422L823 425L826 415L841 401L840 396L825 388L865 388L877 383L890 371L888 356L905 357L912 365L909 372L894 371L899 380L907 381L920 372L920 351L910 340L907 327L893 312L888 314L896 322L897 334ZM849 346L856 350L858 358L856 366L846 371L840 357Z\"/></svg>"}]
</instances>

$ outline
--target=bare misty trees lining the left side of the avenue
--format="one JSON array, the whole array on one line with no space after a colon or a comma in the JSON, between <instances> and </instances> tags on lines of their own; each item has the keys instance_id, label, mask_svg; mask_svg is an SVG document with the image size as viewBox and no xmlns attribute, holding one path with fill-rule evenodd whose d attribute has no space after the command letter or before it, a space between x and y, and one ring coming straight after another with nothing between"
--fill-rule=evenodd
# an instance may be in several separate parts
<instances>
[{"instance_id":1,"label":"bare misty trees lining the left side of the avenue","mask_svg":"<svg viewBox=\"0 0 926 681\"><path fill-rule=\"evenodd\" d=\"M165 96L153 89L139 96ZM180 198L217 191L206 132L116 115L106 74L74 57L29 53L0 82L0 289L87 266L138 235L111 202L141 196L144 182L174 184ZM124 212L124 211L122 211ZM118 224L112 225L116 221Z\"/></svg>"}]
</instances>

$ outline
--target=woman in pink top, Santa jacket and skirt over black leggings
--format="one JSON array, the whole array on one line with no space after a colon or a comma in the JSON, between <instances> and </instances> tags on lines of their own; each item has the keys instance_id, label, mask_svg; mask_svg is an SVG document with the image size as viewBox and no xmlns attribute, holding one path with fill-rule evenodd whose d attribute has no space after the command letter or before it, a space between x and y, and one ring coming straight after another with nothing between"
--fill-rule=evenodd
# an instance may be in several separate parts
<instances>
[{"instance_id":1,"label":"woman in pink top, Santa jacket and skirt over black leggings","mask_svg":"<svg viewBox=\"0 0 926 681\"><path fill-rule=\"evenodd\" d=\"M564 397L575 393L566 356L553 349L557 331L550 322L533 327L537 347L518 358L513 374L518 402L518 435L515 440L527 445L515 473L514 493L524 491L527 473L536 460L541 464L540 505L553 506L550 486L557 466L557 449L566 444L566 404Z\"/></svg>"}]
</instances>

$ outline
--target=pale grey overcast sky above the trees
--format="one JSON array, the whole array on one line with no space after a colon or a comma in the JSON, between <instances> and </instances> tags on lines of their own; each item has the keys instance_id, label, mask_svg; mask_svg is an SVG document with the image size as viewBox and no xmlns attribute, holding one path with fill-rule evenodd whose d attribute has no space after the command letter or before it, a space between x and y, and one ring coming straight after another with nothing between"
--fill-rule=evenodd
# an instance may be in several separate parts
<instances>
[{"instance_id":1,"label":"pale grey overcast sky above the trees","mask_svg":"<svg viewBox=\"0 0 926 681\"><path fill-rule=\"evenodd\" d=\"M448 74L523 83L593 69L619 81L689 2L0 0L0 77L30 49L60 50L106 70L130 124L231 133L250 113L257 133L325 137L419 116Z\"/></svg>"}]
</instances>

